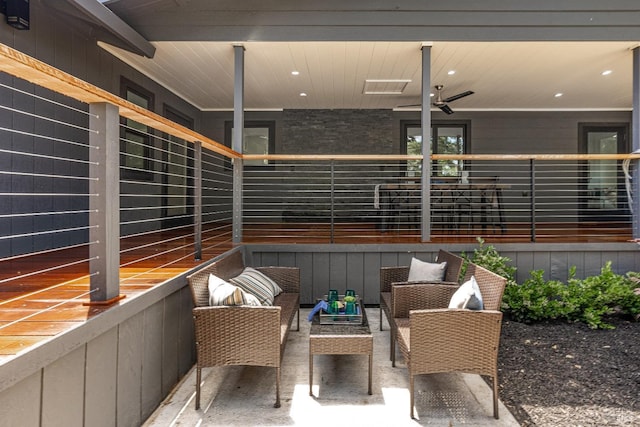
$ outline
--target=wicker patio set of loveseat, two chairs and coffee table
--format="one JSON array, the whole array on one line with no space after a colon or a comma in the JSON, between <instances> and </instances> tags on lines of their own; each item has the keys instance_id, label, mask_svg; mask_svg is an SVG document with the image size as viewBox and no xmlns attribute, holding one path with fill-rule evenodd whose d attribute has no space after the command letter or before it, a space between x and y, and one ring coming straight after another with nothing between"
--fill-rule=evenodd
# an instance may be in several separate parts
<instances>
[{"instance_id":1,"label":"wicker patio set of loveseat, two chairs and coffee table","mask_svg":"<svg viewBox=\"0 0 640 427\"><path fill-rule=\"evenodd\" d=\"M410 266L380 270L380 330L384 313L390 326L392 366L398 347L409 372L412 418L414 377L448 372L491 377L493 416L498 418L499 309L506 279L467 263L460 280L462 268L462 258L440 250L434 263L413 258ZM195 304L196 409L200 407L202 368L226 365L274 367L274 406L280 407L281 362L296 314L300 330L299 269L246 267L242 252L235 250L187 279ZM275 289L262 292L270 287ZM351 321L321 322L319 314L311 318L310 395L316 354L368 355L368 393L372 394L373 337L361 301L359 307Z\"/></svg>"}]
</instances>

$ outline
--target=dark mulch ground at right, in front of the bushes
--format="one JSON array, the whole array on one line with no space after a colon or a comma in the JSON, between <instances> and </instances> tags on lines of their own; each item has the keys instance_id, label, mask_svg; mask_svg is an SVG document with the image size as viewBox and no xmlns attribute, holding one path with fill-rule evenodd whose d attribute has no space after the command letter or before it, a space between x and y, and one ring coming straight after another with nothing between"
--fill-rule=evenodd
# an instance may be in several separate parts
<instances>
[{"instance_id":1,"label":"dark mulch ground at right, in front of the bushes","mask_svg":"<svg viewBox=\"0 0 640 427\"><path fill-rule=\"evenodd\" d=\"M523 426L640 426L640 322L505 319L500 399Z\"/></svg>"}]
</instances>

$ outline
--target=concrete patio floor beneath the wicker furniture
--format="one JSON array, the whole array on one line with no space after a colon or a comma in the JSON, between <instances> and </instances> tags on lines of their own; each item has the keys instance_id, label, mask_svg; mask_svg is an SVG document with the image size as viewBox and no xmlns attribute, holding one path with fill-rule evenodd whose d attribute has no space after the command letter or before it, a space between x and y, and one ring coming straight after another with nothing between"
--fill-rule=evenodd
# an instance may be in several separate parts
<instances>
[{"instance_id":1,"label":"concrete patio floor beneath the wicker furniture","mask_svg":"<svg viewBox=\"0 0 640 427\"><path fill-rule=\"evenodd\" d=\"M398 352L389 361L389 327L379 328L378 308L367 308L374 339L373 395L367 394L368 358L314 356L309 395L309 309L300 332L291 331L282 362L281 404L275 402L275 370L261 367L203 369L201 408L195 409L195 369L146 421L166 426L519 426L500 402L492 415L492 393L478 375L437 374L416 379L416 417L409 416L409 378ZM294 320L295 322L295 320Z\"/></svg>"}]
</instances>

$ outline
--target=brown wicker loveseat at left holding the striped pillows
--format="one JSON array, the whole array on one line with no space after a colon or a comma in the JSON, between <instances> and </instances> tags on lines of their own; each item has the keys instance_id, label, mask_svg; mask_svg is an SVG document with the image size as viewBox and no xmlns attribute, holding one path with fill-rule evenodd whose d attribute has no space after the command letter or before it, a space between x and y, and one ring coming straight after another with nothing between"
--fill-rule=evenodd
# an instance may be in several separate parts
<instances>
[{"instance_id":1,"label":"brown wicker loveseat at left holding the striped pillows","mask_svg":"<svg viewBox=\"0 0 640 427\"><path fill-rule=\"evenodd\" d=\"M280 407L280 364L296 314L297 330L300 330L300 270L296 267L255 268L283 290L275 297L273 306L210 306L209 275L229 280L244 268L243 254L236 249L187 277L195 305L196 409L200 408L202 368L229 365L274 367L274 407Z\"/></svg>"}]
</instances>

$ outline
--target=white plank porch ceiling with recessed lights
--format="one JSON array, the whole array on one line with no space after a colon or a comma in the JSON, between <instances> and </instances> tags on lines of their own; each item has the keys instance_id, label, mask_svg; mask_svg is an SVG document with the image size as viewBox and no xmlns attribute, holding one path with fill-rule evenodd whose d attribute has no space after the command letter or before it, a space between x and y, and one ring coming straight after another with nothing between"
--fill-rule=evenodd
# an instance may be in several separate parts
<instances>
[{"instance_id":1,"label":"white plank porch ceiling with recessed lights","mask_svg":"<svg viewBox=\"0 0 640 427\"><path fill-rule=\"evenodd\" d=\"M234 49L228 42L153 42L154 58L101 43L201 110L233 109ZM417 104L421 43L243 42L245 108L389 109ZM437 42L431 82L443 97L474 95L454 111L630 110L634 42ZM291 71L299 71L293 76ZM455 70L454 75L448 75ZM602 72L611 70L603 76ZM365 82L410 80L401 95L364 94ZM379 84L378 84L379 85ZM300 93L306 93L301 97ZM433 92L433 89L431 90ZM556 93L563 96L555 97Z\"/></svg>"}]
</instances>

